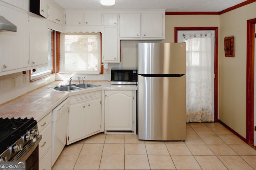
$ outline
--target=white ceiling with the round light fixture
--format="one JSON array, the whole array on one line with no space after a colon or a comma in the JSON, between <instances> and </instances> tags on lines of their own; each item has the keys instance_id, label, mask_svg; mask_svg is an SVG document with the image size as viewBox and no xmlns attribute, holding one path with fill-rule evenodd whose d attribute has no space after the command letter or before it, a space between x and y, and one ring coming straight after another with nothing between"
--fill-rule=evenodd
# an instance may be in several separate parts
<instances>
[{"instance_id":1,"label":"white ceiling with the round light fixture","mask_svg":"<svg viewBox=\"0 0 256 170\"><path fill-rule=\"evenodd\" d=\"M64 9L166 9L166 12L220 12L246 0L116 0L116 4L114 6L102 6L100 4L100 0L53 1Z\"/></svg>"}]
</instances>

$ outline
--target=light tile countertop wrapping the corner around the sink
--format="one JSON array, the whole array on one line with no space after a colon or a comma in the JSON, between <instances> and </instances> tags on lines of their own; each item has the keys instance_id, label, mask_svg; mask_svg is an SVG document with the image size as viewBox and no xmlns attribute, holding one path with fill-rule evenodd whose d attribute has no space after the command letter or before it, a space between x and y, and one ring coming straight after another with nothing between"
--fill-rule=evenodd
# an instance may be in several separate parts
<instances>
[{"instance_id":1,"label":"light tile countertop wrapping the corner around the sink","mask_svg":"<svg viewBox=\"0 0 256 170\"><path fill-rule=\"evenodd\" d=\"M48 87L65 84L65 82L55 81L46 86L19 96L14 100L10 100L9 102L1 104L0 117L14 117L15 119L18 117L34 117L34 119L40 121L44 116L52 111L52 109L58 106L66 98L68 98L68 96L74 96L77 94L84 94L98 90L137 90L136 85L111 85L111 83L108 81L86 81L86 83L87 82L98 84L100 86L74 90L71 92L56 92L49 89ZM75 83L77 82L72 82L72 84Z\"/></svg>"}]
</instances>

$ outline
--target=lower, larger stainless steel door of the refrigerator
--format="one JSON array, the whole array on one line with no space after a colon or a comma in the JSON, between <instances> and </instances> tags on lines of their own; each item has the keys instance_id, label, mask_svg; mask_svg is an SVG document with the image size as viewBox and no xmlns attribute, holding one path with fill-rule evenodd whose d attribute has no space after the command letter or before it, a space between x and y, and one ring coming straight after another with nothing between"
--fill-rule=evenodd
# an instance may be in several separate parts
<instances>
[{"instance_id":1,"label":"lower, larger stainless steel door of the refrigerator","mask_svg":"<svg viewBox=\"0 0 256 170\"><path fill-rule=\"evenodd\" d=\"M186 140L186 76L138 76L138 136L142 140Z\"/></svg>"}]
</instances>

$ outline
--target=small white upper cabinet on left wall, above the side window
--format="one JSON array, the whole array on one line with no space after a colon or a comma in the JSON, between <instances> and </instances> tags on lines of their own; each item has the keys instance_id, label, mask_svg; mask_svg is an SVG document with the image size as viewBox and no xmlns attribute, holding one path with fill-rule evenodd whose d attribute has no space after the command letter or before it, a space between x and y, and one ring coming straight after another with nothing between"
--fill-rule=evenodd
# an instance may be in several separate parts
<instances>
[{"instance_id":1,"label":"small white upper cabinet on left wall, above the side window","mask_svg":"<svg viewBox=\"0 0 256 170\"><path fill-rule=\"evenodd\" d=\"M63 25L63 23L64 23L63 10L56 8L55 6L52 6L51 4L49 4L48 7L49 7L48 20Z\"/></svg>"}]
</instances>

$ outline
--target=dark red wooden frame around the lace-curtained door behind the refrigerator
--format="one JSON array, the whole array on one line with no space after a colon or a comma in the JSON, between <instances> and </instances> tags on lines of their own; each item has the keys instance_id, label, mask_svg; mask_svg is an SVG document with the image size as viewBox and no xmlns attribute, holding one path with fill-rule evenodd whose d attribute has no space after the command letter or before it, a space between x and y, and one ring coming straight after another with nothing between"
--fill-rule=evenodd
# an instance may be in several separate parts
<instances>
[{"instance_id":1,"label":"dark red wooden frame around the lace-curtained door behind the refrigerator","mask_svg":"<svg viewBox=\"0 0 256 170\"><path fill-rule=\"evenodd\" d=\"M214 122L218 122L218 27L174 27L174 42L178 42L178 31L213 30L214 44Z\"/></svg>"}]
</instances>

